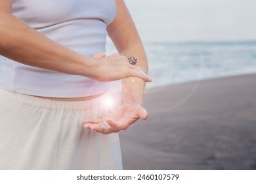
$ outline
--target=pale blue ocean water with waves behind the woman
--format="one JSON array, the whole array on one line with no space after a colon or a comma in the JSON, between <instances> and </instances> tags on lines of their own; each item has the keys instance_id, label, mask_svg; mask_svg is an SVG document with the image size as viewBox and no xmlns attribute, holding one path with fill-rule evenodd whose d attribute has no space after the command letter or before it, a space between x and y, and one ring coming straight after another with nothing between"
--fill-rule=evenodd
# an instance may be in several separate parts
<instances>
[{"instance_id":1,"label":"pale blue ocean water with waves behind the woman","mask_svg":"<svg viewBox=\"0 0 256 183\"><path fill-rule=\"evenodd\" d=\"M147 87L256 73L256 41L144 42L149 75ZM111 43L107 54L116 52Z\"/></svg>"}]
</instances>

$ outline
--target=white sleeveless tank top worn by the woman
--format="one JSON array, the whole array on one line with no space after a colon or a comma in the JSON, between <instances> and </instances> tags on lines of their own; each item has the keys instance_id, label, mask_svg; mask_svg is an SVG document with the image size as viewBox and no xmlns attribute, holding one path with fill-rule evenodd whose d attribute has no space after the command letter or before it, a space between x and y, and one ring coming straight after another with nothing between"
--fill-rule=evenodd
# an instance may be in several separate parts
<instances>
[{"instance_id":1,"label":"white sleeveless tank top worn by the woman","mask_svg":"<svg viewBox=\"0 0 256 183\"><path fill-rule=\"evenodd\" d=\"M43 35L89 58L106 52L106 26L116 15L114 0L12 0L12 14ZM40 42L39 42L40 44ZM5 58L0 88L44 97L85 97L108 83L30 67Z\"/></svg>"}]
</instances>

